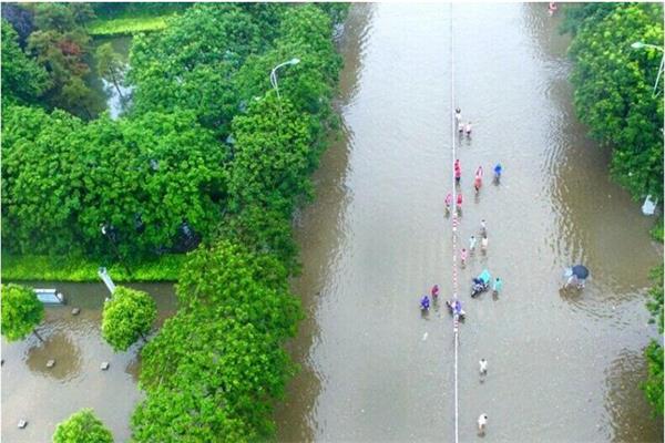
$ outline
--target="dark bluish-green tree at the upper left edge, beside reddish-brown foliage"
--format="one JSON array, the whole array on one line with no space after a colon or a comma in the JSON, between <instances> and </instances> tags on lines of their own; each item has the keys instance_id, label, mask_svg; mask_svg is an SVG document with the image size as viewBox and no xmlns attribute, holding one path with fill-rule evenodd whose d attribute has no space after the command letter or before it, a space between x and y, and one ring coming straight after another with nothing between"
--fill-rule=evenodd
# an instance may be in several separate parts
<instances>
[{"instance_id":1,"label":"dark bluish-green tree at the upper left edge, beside reddish-brown foliage","mask_svg":"<svg viewBox=\"0 0 665 443\"><path fill-rule=\"evenodd\" d=\"M13 28L4 20L2 32L2 103L34 103L48 87L47 71L28 58Z\"/></svg>"}]
</instances>

